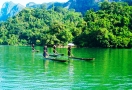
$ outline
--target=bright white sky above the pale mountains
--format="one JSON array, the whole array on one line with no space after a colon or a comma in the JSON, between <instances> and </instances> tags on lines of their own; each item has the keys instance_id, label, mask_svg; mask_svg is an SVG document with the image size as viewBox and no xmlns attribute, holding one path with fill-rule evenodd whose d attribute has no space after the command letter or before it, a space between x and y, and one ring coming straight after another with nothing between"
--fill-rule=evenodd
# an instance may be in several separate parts
<instances>
[{"instance_id":1,"label":"bright white sky above the pale mountains","mask_svg":"<svg viewBox=\"0 0 132 90\"><path fill-rule=\"evenodd\" d=\"M57 1L57 2L67 2L68 0L0 0L0 8L2 7L3 3L9 2L9 1L14 2L15 4L20 3L24 6L26 6L26 4L28 2L35 2L36 4L41 4L43 2L55 2L55 1Z\"/></svg>"}]
</instances>

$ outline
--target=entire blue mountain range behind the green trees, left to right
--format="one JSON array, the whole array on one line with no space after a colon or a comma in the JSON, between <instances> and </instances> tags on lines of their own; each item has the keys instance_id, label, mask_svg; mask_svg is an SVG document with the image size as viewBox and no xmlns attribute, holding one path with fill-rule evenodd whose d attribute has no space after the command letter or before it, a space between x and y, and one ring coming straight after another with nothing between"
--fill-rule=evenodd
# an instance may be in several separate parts
<instances>
[{"instance_id":1,"label":"entire blue mountain range behind the green trees, left to right","mask_svg":"<svg viewBox=\"0 0 132 90\"><path fill-rule=\"evenodd\" d=\"M45 7L47 9L52 8L54 6L61 6L68 9L75 9L77 12L85 13L87 10L93 8L94 10L98 10L98 4L99 2L103 1L109 1L109 2L118 2L118 1L124 1L128 2L130 5L132 4L132 0L69 0L65 3L60 2L49 2L49 3L42 3L42 4L36 4L34 2L29 2L26 4L26 7L24 7L21 4L15 4L12 1L5 2L0 10L0 21L5 21L9 17L13 17L17 13L19 13L24 8L42 8Z\"/></svg>"}]
</instances>

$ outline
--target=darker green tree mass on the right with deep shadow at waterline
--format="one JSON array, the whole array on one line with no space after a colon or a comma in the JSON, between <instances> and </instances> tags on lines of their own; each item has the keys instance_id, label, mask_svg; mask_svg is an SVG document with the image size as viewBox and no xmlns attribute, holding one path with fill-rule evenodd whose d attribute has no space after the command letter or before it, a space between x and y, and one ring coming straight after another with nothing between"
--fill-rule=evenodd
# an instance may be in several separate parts
<instances>
[{"instance_id":1,"label":"darker green tree mass on the right with deep shadow at waterline","mask_svg":"<svg viewBox=\"0 0 132 90\"><path fill-rule=\"evenodd\" d=\"M87 27L76 37L77 45L132 47L132 7L126 3L103 2L100 9L86 12L84 20Z\"/></svg>"}]
</instances>

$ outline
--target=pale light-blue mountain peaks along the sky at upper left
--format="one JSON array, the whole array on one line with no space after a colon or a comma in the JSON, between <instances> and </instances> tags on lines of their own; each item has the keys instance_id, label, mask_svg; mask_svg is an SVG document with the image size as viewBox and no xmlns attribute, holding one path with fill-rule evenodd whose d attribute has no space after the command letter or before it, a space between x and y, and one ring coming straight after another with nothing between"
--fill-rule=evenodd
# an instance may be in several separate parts
<instances>
[{"instance_id":1,"label":"pale light-blue mountain peaks along the sky at upper left","mask_svg":"<svg viewBox=\"0 0 132 90\"><path fill-rule=\"evenodd\" d=\"M36 4L34 2L29 2L26 4L27 8L42 8L42 6L45 6L45 8L49 9L51 8L53 3L42 3L42 4ZM63 3L54 2L55 6L62 6ZM13 17L17 13L19 13L21 10L23 10L25 7L21 4L15 4L12 1L5 2L0 10L0 21L6 21L7 18Z\"/></svg>"}]
</instances>

